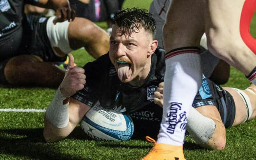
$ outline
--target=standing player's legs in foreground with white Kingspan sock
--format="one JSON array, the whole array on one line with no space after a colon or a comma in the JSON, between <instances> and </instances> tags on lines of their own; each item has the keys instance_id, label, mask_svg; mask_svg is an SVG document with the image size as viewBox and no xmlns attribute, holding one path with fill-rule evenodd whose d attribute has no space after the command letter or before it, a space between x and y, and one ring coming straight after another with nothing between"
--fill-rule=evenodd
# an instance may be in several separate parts
<instances>
[{"instance_id":1,"label":"standing player's legs in foreground with white Kingspan sock","mask_svg":"<svg viewBox=\"0 0 256 160\"><path fill-rule=\"evenodd\" d=\"M168 9L163 27L166 50L164 109L157 143L173 148L172 159L175 159L176 152L180 152L184 141L186 123L179 122L180 115L189 115L202 82L198 47L204 32L209 51L242 71L248 80L256 84L256 40L249 31L256 1L230 2L173 0ZM177 117L170 114L174 107L179 108L175 114ZM164 153L154 152L153 148L147 157L153 159L154 156L161 159Z\"/></svg>"}]
</instances>

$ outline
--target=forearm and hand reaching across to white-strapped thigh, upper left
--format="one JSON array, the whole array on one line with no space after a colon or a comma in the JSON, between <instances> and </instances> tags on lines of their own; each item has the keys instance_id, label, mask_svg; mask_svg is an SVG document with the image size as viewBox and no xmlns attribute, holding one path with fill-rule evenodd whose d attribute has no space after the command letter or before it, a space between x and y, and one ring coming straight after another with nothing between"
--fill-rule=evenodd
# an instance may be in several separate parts
<instances>
[{"instance_id":1,"label":"forearm and hand reaching across to white-strapped thigh, upper left","mask_svg":"<svg viewBox=\"0 0 256 160\"><path fill-rule=\"evenodd\" d=\"M38 0L36 6L53 9L56 13L54 24L62 21L74 20L76 13L70 8L68 0Z\"/></svg>"}]
</instances>

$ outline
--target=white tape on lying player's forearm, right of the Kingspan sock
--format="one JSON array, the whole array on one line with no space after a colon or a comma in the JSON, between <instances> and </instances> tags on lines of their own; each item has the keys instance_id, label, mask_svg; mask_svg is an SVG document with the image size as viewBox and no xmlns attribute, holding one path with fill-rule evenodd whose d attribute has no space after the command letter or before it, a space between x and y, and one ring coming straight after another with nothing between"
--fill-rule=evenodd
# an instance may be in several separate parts
<instances>
[{"instance_id":1,"label":"white tape on lying player's forearm, right of the Kingspan sock","mask_svg":"<svg viewBox=\"0 0 256 160\"><path fill-rule=\"evenodd\" d=\"M216 128L215 122L191 107L188 115L187 131L198 144L206 144Z\"/></svg>"}]
</instances>

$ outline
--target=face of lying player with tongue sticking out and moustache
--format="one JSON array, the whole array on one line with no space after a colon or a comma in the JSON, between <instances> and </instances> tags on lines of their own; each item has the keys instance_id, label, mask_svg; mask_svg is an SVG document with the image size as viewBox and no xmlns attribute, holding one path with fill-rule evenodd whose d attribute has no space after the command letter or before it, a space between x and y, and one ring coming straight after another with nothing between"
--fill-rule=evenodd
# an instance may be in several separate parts
<instances>
[{"instance_id":1,"label":"face of lying player with tongue sticking out and moustache","mask_svg":"<svg viewBox=\"0 0 256 160\"><path fill-rule=\"evenodd\" d=\"M109 57L122 82L140 86L146 79L150 70L150 55L154 53L151 45L152 37L144 29L128 37L126 34L121 35L118 26L112 27Z\"/></svg>"}]
</instances>

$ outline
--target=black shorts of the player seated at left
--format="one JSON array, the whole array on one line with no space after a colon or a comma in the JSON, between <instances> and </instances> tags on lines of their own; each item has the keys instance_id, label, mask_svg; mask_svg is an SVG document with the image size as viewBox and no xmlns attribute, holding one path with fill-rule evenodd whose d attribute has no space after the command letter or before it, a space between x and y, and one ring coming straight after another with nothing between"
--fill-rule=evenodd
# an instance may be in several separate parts
<instances>
[{"instance_id":1,"label":"black shorts of the player seated at left","mask_svg":"<svg viewBox=\"0 0 256 160\"><path fill-rule=\"evenodd\" d=\"M29 15L14 34L0 39L0 84L7 82L4 77L4 66L12 57L26 54L36 55L47 62L64 62L66 60L66 57L56 56L52 50L46 33L48 19Z\"/></svg>"}]
</instances>

